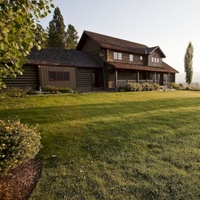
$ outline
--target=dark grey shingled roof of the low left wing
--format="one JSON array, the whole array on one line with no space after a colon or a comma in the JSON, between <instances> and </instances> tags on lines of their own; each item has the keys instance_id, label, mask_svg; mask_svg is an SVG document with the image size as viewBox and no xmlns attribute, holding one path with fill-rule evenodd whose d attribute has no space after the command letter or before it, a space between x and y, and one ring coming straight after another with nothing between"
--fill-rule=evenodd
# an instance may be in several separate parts
<instances>
[{"instance_id":1,"label":"dark grey shingled roof of the low left wing","mask_svg":"<svg viewBox=\"0 0 200 200\"><path fill-rule=\"evenodd\" d=\"M32 49L26 64L99 67L98 63L89 53L55 47L48 47L41 50Z\"/></svg>"}]
</instances>

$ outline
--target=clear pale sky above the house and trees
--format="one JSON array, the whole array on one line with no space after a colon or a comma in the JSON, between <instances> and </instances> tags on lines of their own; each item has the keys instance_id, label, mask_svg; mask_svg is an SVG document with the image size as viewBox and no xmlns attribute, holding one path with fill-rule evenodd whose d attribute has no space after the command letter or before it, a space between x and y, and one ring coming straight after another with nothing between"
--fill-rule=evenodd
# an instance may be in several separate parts
<instances>
[{"instance_id":1,"label":"clear pale sky above the house and trees","mask_svg":"<svg viewBox=\"0 0 200 200\"><path fill-rule=\"evenodd\" d=\"M194 46L193 67L200 71L200 0L54 0L66 27L117 37L149 47L160 46L164 61L184 72L188 43ZM54 9L52 10L54 11ZM53 12L41 24L44 28Z\"/></svg>"}]
</instances>

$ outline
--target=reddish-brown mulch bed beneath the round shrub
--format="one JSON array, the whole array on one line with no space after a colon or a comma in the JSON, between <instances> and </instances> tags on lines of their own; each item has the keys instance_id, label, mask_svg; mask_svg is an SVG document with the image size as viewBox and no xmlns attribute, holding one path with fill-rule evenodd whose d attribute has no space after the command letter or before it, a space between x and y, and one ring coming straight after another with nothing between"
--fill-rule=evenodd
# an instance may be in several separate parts
<instances>
[{"instance_id":1,"label":"reddish-brown mulch bed beneath the round shrub","mask_svg":"<svg viewBox=\"0 0 200 200\"><path fill-rule=\"evenodd\" d=\"M27 200L41 177L42 161L31 159L0 177L0 200Z\"/></svg>"}]
</instances>

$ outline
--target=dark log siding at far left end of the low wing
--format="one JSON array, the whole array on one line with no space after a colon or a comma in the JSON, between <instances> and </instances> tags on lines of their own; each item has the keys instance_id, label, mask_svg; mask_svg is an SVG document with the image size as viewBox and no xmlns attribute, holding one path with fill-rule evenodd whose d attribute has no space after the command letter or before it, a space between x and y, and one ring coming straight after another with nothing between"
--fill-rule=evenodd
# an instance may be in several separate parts
<instances>
[{"instance_id":1,"label":"dark log siding at far left end of the low wing","mask_svg":"<svg viewBox=\"0 0 200 200\"><path fill-rule=\"evenodd\" d=\"M22 68L23 75L17 75L16 78L3 79L7 87L19 87L31 89L39 89L39 77L38 77L38 66L37 65L25 65Z\"/></svg>"}]
</instances>

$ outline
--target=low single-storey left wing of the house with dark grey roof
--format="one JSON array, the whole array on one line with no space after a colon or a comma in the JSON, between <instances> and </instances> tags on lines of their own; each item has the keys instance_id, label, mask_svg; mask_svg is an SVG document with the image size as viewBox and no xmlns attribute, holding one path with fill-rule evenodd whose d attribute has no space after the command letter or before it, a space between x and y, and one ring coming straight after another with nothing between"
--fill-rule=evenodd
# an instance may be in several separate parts
<instances>
[{"instance_id":1,"label":"low single-storey left wing of the house with dark grey roof","mask_svg":"<svg viewBox=\"0 0 200 200\"><path fill-rule=\"evenodd\" d=\"M7 87L30 87L39 90L47 85L58 88L92 90L93 74L101 75L101 66L87 53L48 47L33 49L23 66L23 75L6 78Z\"/></svg>"}]
</instances>

